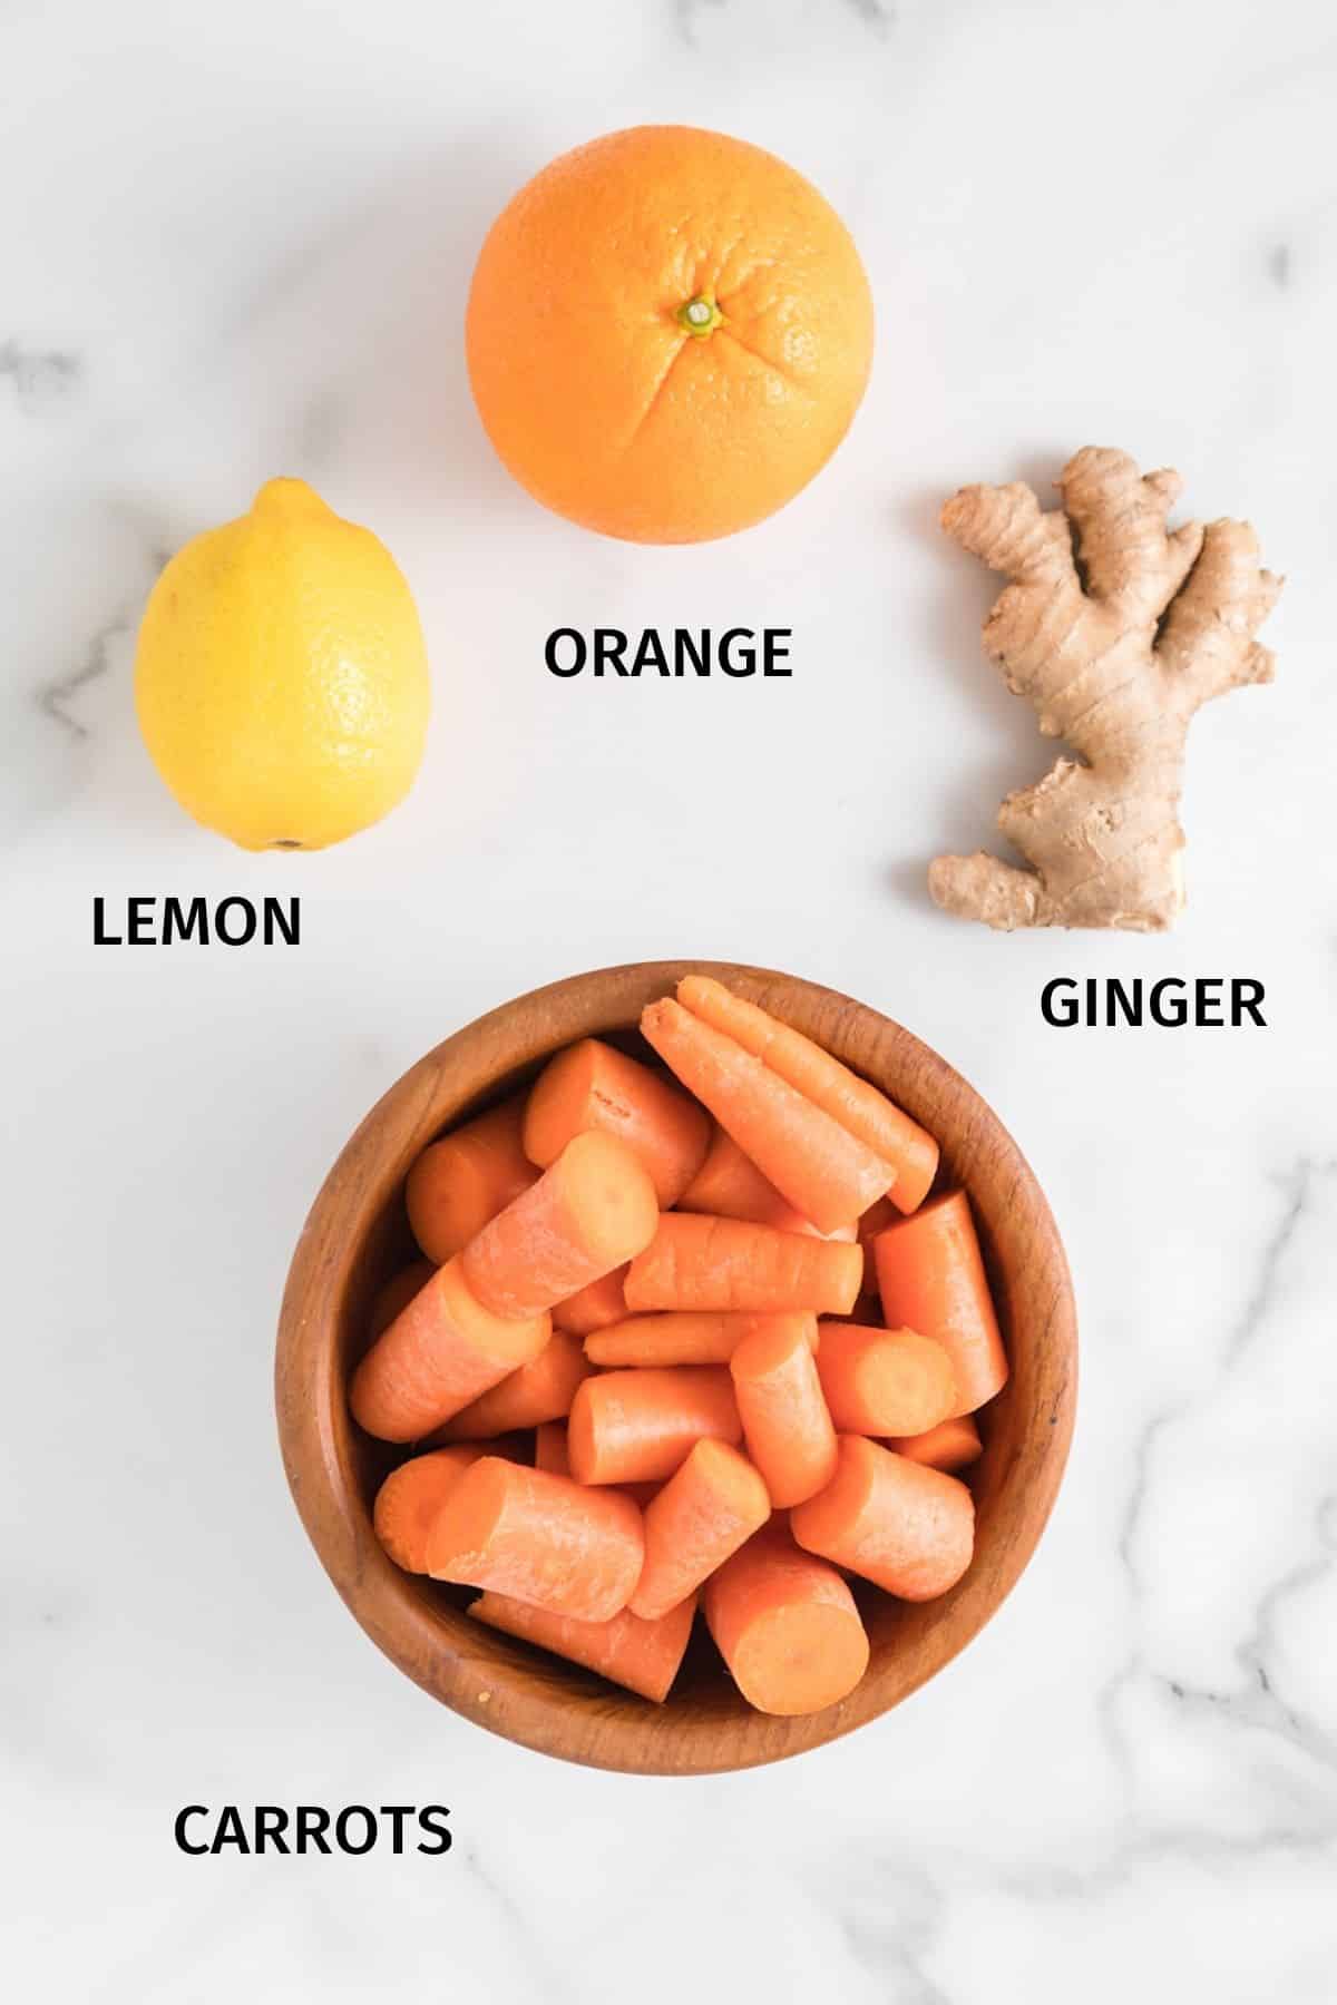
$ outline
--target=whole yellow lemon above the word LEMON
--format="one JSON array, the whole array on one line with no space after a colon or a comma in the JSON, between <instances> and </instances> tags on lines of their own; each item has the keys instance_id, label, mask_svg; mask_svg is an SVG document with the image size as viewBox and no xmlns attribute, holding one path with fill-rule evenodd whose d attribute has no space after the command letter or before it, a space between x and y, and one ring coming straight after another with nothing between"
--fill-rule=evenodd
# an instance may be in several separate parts
<instances>
[{"instance_id":1,"label":"whole yellow lemon above the word LEMON","mask_svg":"<svg viewBox=\"0 0 1337 2005\"><path fill-rule=\"evenodd\" d=\"M148 595L134 706L186 814L243 850L323 850L389 814L423 758L429 676L409 585L305 481L267 481Z\"/></svg>"}]
</instances>

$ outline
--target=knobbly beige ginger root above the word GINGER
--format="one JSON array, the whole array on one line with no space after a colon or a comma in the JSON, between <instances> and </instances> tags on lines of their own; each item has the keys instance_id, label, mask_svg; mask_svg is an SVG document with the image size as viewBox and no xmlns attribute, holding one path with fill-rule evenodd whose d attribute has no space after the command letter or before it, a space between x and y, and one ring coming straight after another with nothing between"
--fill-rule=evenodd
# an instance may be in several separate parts
<instances>
[{"instance_id":1,"label":"knobbly beige ginger root above the word GINGER","mask_svg":"<svg viewBox=\"0 0 1337 2005\"><path fill-rule=\"evenodd\" d=\"M1253 640L1281 579L1259 567L1247 521L1167 531L1179 473L1139 475L1127 453L1084 447L1058 479L1062 507L1030 487L962 487L942 527L1010 583L984 652L1026 696L1060 758L1008 794L998 828L1030 870L938 856L934 900L960 918L1016 926L1163 932L1183 910L1179 794L1189 720L1209 696L1271 682Z\"/></svg>"}]
</instances>

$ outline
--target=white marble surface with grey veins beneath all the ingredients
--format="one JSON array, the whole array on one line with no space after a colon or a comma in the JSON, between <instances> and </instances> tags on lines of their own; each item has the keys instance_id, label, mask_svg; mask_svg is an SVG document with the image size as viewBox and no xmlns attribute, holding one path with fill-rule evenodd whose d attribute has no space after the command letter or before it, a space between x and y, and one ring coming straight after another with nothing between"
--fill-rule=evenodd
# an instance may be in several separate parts
<instances>
[{"instance_id":1,"label":"white marble surface with grey veins beneath all the ingredients","mask_svg":"<svg viewBox=\"0 0 1337 2005\"><path fill-rule=\"evenodd\" d=\"M1327 2005L1337 1995L1337 152L1299 0L0 6L8 1373L2 1959L222 2005ZM774 146L878 297L866 407L776 521L629 549L493 461L461 303L501 200L613 124ZM934 527L1080 443L1289 573L1193 730L1173 938L994 938L926 860L1048 762ZM411 804L247 858L154 784L164 555L301 473L407 569ZM794 680L557 684L551 626L794 628ZM94 894L301 890L297 952L94 948ZM1072 1464L992 1628L852 1740L581 1772L355 1628L271 1418L287 1259L421 1051L545 978L828 980L1028 1151L1082 1311ZM1267 1031L1054 1031L1050 974L1249 974ZM182 1802L447 1802L445 1859L184 1859Z\"/></svg>"}]
</instances>

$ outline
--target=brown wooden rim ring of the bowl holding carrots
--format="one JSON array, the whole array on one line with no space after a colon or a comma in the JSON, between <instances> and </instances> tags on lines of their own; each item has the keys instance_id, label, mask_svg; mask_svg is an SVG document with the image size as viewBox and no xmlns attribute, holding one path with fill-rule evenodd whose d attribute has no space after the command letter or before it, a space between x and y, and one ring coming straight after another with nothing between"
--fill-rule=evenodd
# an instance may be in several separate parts
<instances>
[{"instance_id":1,"label":"brown wooden rim ring of the bowl holding carrots","mask_svg":"<svg viewBox=\"0 0 1337 2005\"><path fill-rule=\"evenodd\" d=\"M1024 1217L1038 1239L1052 1293L1042 1331L1028 1333L1028 1341L1048 1339L1044 1412L1032 1426L1038 1454L1010 1506L996 1564L988 1576L972 1568L934 1604L942 1618L912 1670L898 1664L896 1652L890 1662L874 1660L844 1704L806 1718L778 1720L744 1708L720 1720L676 1720L672 1696L653 1706L573 1666L569 1674L559 1666L535 1670L537 1654L527 1646L443 1608L435 1586L395 1568L375 1540L353 1466L345 1377L337 1369L339 1317L359 1245L425 1141L533 1057L551 1055L573 1037L633 1029L639 1007L651 994L672 992L688 972L734 982L782 1013L786 1000L800 1002L808 1019L830 1017L850 1027L836 1047L876 1037L890 1041L900 1065L922 1069L936 1091L958 1101L976 1151L1006 1159L1006 1209ZM579 1029L563 1029L533 1057L507 1049L517 1023L561 1023L571 1007ZM810 1023L802 1027L818 1035ZM844 1051L838 1055L852 1063ZM467 1091L451 1093L451 1079L463 1079ZM894 1097L902 1099L900 1091ZM401 1145L387 1157L393 1129ZM940 1141L948 1151L950 1137ZM978 1209L974 1193L972 1203ZM1066 1464L1076 1406L1076 1303L1062 1241L1030 1165L968 1081L910 1031L852 996L774 968L696 958L625 962L543 984L477 1017L411 1065L359 1123L325 1177L293 1253L279 1317L275 1401L283 1464L307 1536L357 1622L407 1676L479 1726L545 1754L635 1774L712 1774L788 1758L878 1718L942 1670L1002 1606L1036 1548Z\"/></svg>"}]
</instances>

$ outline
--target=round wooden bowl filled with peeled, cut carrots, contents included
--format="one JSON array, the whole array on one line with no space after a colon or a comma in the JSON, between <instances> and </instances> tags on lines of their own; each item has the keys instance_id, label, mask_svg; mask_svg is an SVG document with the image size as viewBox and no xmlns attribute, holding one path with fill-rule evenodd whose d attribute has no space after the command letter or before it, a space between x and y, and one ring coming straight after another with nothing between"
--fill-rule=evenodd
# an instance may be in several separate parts
<instances>
[{"instance_id":1,"label":"round wooden bowl filled with peeled, cut carrots, contents included","mask_svg":"<svg viewBox=\"0 0 1337 2005\"><path fill-rule=\"evenodd\" d=\"M427 1692L700 1774L876 1718L1020 1576L1076 1313L1016 1143L812 982L603 968L449 1037L327 1177L283 1301L311 1542Z\"/></svg>"}]
</instances>

